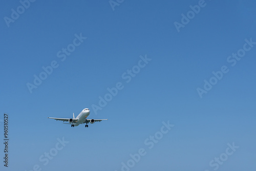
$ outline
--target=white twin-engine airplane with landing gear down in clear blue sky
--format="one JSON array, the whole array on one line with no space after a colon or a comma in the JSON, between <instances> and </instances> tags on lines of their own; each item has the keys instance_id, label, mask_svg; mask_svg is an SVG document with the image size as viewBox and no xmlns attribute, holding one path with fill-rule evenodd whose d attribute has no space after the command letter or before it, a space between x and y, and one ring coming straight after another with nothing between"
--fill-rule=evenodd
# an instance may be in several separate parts
<instances>
[{"instance_id":1,"label":"white twin-engine airplane with landing gear down in clear blue sky","mask_svg":"<svg viewBox=\"0 0 256 171\"><path fill-rule=\"evenodd\" d=\"M108 120L108 119L87 119L87 117L90 115L90 110L88 108L82 110L80 114L75 118L75 115L73 113L73 119L70 118L50 118L49 119L55 119L55 120L61 120L63 122L69 122L65 124L71 124L71 127L78 126L79 124L86 123L86 127L88 127L88 123L94 123L94 122L100 122L102 120Z\"/></svg>"}]
</instances>

